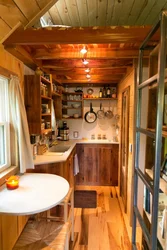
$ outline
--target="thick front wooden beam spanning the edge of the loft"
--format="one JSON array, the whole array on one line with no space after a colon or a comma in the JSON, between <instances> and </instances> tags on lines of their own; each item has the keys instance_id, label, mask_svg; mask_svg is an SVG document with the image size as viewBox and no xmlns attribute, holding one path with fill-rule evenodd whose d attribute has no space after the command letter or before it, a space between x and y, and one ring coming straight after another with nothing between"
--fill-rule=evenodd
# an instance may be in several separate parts
<instances>
[{"instance_id":1,"label":"thick front wooden beam spanning the edge of the loft","mask_svg":"<svg viewBox=\"0 0 167 250\"><path fill-rule=\"evenodd\" d=\"M16 30L5 44L77 44L142 42L151 26L110 26L89 28L43 28ZM158 39L155 35L152 39Z\"/></svg>"}]
</instances>

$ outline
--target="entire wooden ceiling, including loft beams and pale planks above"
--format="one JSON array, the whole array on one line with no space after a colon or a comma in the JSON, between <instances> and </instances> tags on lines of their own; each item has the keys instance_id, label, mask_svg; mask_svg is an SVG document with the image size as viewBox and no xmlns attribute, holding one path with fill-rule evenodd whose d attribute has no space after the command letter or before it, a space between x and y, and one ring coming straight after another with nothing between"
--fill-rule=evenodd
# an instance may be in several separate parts
<instances>
[{"instance_id":1,"label":"entire wooden ceiling, including loft beams and pale planks above","mask_svg":"<svg viewBox=\"0 0 167 250\"><path fill-rule=\"evenodd\" d=\"M166 7L167 1L148 0L0 0L0 21L8 26L0 39L26 65L40 66L62 84L115 85ZM42 15L48 25L58 27L37 28ZM156 44L154 37L149 45ZM85 55L80 53L83 46ZM90 69L90 80L85 69Z\"/></svg>"}]
</instances>

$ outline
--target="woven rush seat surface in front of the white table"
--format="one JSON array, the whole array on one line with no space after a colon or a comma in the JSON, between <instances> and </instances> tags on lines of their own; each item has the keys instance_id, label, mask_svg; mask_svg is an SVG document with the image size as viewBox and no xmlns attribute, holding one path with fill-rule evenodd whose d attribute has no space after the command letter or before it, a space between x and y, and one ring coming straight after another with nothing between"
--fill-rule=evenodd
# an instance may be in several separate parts
<instances>
[{"instance_id":1,"label":"woven rush seat surface in front of the white table","mask_svg":"<svg viewBox=\"0 0 167 250\"><path fill-rule=\"evenodd\" d=\"M28 221L13 250L69 250L69 223Z\"/></svg>"}]
</instances>

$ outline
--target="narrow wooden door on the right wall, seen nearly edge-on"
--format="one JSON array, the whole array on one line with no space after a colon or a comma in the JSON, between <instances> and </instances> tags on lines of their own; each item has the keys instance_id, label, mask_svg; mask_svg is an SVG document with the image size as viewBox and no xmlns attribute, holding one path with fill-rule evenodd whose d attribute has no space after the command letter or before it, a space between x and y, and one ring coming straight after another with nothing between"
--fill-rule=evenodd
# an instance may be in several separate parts
<instances>
[{"instance_id":1,"label":"narrow wooden door on the right wall, seen nearly edge-on","mask_svg":"<svg viewBox=\"0 0 167 250\"><path fill-rule=\"evenodd\" d=\"M121 165L120 165L120 195L127 212L127 178L129 153L129 92L130 87L122 92L121 113Z\"/></svg>"}]
</instances>

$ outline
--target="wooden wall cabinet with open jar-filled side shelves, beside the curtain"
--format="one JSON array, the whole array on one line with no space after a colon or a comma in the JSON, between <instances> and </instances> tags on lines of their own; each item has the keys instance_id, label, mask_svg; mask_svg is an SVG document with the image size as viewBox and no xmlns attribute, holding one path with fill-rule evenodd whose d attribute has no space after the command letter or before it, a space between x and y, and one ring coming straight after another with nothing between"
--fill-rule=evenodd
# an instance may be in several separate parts
<instances>
[{"instance_id":1,"label":"wooden wall cabinet with open jar-filled side shelves, beside the curtain","mask_svg":"<svg viewBox=\"0 0 167 250\"><path fill-rule=\"evenodd\" d=\"M30 134L51 132L51 82L42 76L25 75L24 99Z\"/></svg>"}]
</instances>

